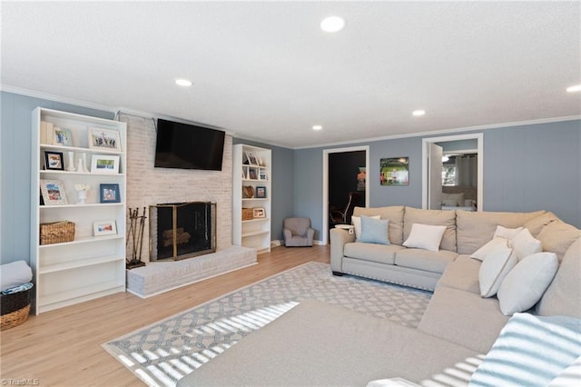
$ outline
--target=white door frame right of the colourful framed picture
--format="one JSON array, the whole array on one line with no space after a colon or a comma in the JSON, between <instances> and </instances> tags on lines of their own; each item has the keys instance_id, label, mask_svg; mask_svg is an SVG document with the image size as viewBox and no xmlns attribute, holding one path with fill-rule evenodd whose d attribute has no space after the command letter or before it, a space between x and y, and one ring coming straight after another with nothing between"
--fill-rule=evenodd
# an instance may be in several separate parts
<instances>
[{"instance_id":1,"label":"white door frame right of the colourful framed picture","mask_svg":"<svg viewBox=\"0 0 581 387\"><path fill-rule=\"evenodd\" d=\"M448 141L460 140L477 140L478 148L478 190L477 190L477 204L478 211L484 211L484 135L482 133L475 134L457 134L447 135L443 137L429 137L422 139L421 142L421 205L422 208L428 208L428 144L431 143L446 143Z\"/></svg>"}]
</instances>

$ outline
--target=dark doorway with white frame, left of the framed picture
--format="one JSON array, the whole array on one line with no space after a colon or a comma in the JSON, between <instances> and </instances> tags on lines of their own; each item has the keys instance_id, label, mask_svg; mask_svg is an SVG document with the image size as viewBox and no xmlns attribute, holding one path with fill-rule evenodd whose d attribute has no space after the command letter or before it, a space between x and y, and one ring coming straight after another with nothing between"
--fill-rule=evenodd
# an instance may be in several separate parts
<instances>
[{"instance_id":1,"label":"dark doorway with white frame, left of the framed picture","mask_svg":"<svg viewBox=\"0 0 581 387\"><path fill-rule=\"evenodd\" d=\"M357 157L350 157L355 156ZM362 157L361 157L362 156ZM350 159L357 160L349 162ZM361 163L363 161L363 163ZM333 166L334 165L334 166ZM346 166L350 165L350 166ZM330 166L333 166L333 171L330 171ZM345 168L344 171L335 171ZM364 170L363 170L364 168ZM363 172L364 171L364 172ZM363 174L362 174L363 172ZM336 174L340 174L340 178L333 178ZM369 146L353 146L349 148L336 148L323 150L323 220L322 229L322 243L329 243L330 228L330 206L341 207L347 204L349 193L361 193L359 205L369 205ZM361 177L365 180L361 181ZM333 182L330 180L333 178ZM362 191L361 191L362 189ZM332 192L331 192L332 190Z\"/></svg>"}]
</instances>

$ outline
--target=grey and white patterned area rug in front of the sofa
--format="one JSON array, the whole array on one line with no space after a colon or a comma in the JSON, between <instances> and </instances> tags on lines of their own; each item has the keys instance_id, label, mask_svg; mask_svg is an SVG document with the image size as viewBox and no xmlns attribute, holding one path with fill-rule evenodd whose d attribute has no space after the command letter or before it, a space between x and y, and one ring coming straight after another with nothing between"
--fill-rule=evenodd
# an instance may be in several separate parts
<instances>
[{"instance_id":1,"label":"grey and white patterned area rug in front of the sofa","mask_svg":"<svg viewBox=\"0 0 581 387\"><path fill-rule=\"evenodd\" d=\"M178 380L227 351L302 300L317 299L417 327L432 293L350 276L305 263L103 344L150 386Z\"/></svg>"}]
</instances>

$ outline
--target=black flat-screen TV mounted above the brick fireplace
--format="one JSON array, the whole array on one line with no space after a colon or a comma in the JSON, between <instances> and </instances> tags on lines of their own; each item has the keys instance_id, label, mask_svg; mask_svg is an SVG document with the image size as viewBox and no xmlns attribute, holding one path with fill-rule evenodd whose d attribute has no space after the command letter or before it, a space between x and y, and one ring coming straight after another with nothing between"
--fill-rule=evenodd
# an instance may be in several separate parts
<instances>
[{"instance_id":1,"label":"black flat-screen TV mounted above the brick fireplace","mask_svg":"<svg viewBox=\"0 0 581 387\"><path fill-rule=\"evenodd\" d=\"M224 135L221 130L158 118L155 166L221 171Z\"/></svg>"}]
</instances>

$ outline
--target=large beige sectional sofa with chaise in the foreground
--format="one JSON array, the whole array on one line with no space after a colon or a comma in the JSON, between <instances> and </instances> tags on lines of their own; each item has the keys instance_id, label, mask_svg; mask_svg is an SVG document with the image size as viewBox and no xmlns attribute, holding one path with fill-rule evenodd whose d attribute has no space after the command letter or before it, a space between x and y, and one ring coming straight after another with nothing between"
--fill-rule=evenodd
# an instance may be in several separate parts
<instances>
[{"instance_id":1,"label":"large beige sectional sofa with chaise in the foreground","mask_svg":"<svg viewBox=\"0 0 581 387\"><path fill-rule=\"evenodd\" d=\"M338 306L303 302L178 385L364 386L386 378L404 378L421 385L466 385L478 363L486 359L484 354L494 357L504 351L504 342L499 343L505 340L503 335L510 334L515 324L522 324L528 316L571 318L573 350L566 352L566 362L572 362L570 356L581 356L581 231L576 227L545 211L470 213L393 206L356 208L354 215L356 219L362 215L389 219L389 244L362 243L346 230L331 230L332 272L432 290L417 329ZM403 246L413 223L446 226L438 252ZM556 253L559 262L540 301L512 319L501 313L496 296L480 295L482 263L470 257L493 239L498 225L526 227L541 241L543 250ZM520 326L516 329L518 334L525 332ZM527 340L535 340L535 334ZM557 347L554 357L560 358L559 344L548 342ZM542 344L536 342L533 352L545 352ZM527 345L519 344L517 351L521 347ZM521 355L510 356L520 359ZM522 355L527 356L530 354ZM565 362L565 354L562 358ZM494 360L490 362L494 364ZM538 370L528 372L533 379L541 377ZM573 380L577 377L581 379L579 375ZM502 377L500 380L510 385ZM474 384L499 385L498 379Z\"/></svg>"}]
</instances>

